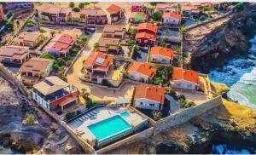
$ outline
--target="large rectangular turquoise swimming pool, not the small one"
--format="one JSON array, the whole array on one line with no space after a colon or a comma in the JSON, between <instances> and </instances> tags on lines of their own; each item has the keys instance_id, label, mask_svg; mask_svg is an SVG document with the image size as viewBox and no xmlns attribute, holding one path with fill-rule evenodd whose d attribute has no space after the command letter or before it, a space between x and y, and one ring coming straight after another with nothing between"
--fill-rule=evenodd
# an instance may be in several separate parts
<instances>
[{"instance_id":1,"label":"large rectangular turquoise swimming pool, not the small one","mask_svg":"<svg viewBox=\"0 0 256 155\"><path fill-rule=\"evenodd\" d=\"M111 141L133 130L131 125L126 123L126 121L119 115L91 124L88 126L88 129L90 129L90 132L96 136L98 144Z\"/></svg>"}]
</instances>

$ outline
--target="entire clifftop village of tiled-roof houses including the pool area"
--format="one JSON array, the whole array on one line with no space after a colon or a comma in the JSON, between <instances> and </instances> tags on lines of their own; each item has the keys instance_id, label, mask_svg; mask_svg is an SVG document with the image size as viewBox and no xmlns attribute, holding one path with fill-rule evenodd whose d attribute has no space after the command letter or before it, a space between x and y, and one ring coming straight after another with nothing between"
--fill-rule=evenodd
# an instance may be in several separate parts
<instances>
[{"instance_id":1,"label":"entire clifftop village of tiled-roof houses including the pool area","mask_svg":"<svg viewBox=\"0 0 256 155\"><path fill-rule=\"evenodd\" d=\"M183 66L183 34L243 5L3 3L1 68L85 150L105 152L219 100Z\"/></svg>"}]
</instances>

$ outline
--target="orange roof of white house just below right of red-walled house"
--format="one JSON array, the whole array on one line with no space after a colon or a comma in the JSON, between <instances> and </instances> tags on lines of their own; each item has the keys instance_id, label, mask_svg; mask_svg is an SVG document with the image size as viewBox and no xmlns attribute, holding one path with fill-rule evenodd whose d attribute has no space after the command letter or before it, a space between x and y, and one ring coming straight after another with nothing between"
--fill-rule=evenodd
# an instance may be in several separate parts
<instances>
[{"instance_id":1,"label":"orange roof of white house just below right of red-walled house","mask_svg":"<svg viewBox=\"0 0 256 155\"><path fill-rule=\"evenodd\" d=\"M163 55L169 59L173 59L174 51L172 49L156 46L150 49L150 55Z\"/></svg>"}]
</instances>

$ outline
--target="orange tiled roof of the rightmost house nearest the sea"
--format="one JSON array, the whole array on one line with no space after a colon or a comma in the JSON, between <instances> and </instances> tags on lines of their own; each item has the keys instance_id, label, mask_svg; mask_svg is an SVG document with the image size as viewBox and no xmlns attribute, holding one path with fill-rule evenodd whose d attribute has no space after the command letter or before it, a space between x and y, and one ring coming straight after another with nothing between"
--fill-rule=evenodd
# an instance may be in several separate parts
<instances>
[{"instance_id":1,"label":"orange tiled roof of the rightmost house nearest the sea","mask_svg":"<svg viewBox=\"0 0 256 155\"><path fill-rule=\"evenodd\" d=\"M192 70L186 70L182 68L173 68L172 72L172 80L186 80L191 83L198 84L199 78L198 78L198 72L192 71Z\"/></svg>"}]
</instances>

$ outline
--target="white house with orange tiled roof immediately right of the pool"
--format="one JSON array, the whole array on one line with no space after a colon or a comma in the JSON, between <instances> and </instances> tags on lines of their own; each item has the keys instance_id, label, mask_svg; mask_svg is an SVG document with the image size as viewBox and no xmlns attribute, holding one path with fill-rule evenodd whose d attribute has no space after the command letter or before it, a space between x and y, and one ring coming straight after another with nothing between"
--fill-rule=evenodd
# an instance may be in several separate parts
<instances>
[{"instance_id":1,"label":"white house with orange tiled roof immediately right of the pool","mask_svg":"<svg viewBox=\"0 0 256 155\"><path fill-rule=\"evenodd\" d=\"M164 102L164 88L146 84L137 85L133 106L148 110L162 110Z\"/></svg>"}]
</instances>

